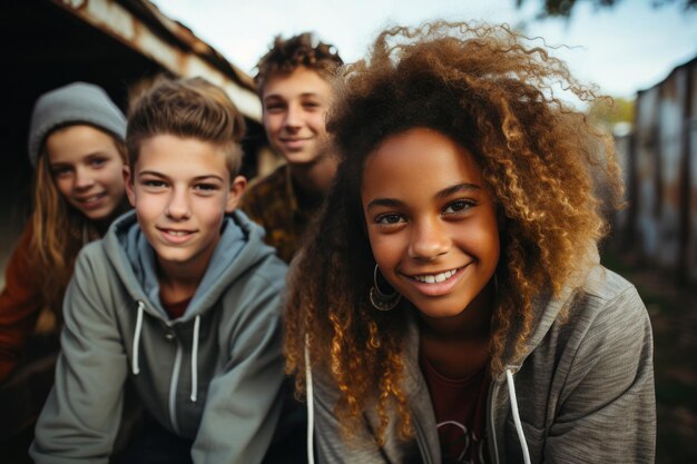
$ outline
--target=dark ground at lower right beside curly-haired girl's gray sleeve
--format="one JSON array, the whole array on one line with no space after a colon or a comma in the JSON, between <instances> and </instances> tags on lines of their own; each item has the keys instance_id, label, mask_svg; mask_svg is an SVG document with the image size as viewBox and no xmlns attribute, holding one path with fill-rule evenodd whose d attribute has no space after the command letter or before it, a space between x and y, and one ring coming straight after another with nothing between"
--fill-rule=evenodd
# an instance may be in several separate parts
<instances>
[{"instance_id":1,"label":"dark ground at lower right beside curly-haired girl's gray sleeve","mask_svg":"<svg viewBox=\"0 0 697 464\"><path fill-rule=\"evenodd\" d=\"M697 286L611 247L606 267L635 284L654 328L656 463L697 463Z\"/></svg>"}]
</instances>

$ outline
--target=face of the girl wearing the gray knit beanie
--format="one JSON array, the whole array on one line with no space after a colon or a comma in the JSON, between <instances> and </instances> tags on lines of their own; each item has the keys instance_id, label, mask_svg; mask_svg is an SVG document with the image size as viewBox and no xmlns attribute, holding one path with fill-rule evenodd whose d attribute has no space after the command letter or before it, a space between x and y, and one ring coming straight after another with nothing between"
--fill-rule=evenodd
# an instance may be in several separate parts
<instances>
[{"instance_id":1,"label":"face of the girl wearing the gray knit beanie","mask_svg":"<svg viewBox=\"0 0 697 464\"><path fill-rule=\"evenodd\" d=\"M124 200L124 159L111 136L91 126L69 126L46 139L46 154L68 204L90 220L109 220Z\"/></svg>"}]
</instances>

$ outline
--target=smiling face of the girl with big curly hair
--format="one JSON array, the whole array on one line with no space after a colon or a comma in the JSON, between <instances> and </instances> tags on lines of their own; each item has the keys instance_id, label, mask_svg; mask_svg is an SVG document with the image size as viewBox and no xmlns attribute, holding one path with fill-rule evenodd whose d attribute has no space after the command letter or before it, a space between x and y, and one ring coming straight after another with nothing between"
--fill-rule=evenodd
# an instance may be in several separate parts
<instances>
[{"instance_id":1,"label":"smiling face of the girl with big curly hair","mask_svg":"<svg viewBox=\"0 0 697 464\"><path fill-rule=\"evenodd\" d=\"M424 316L458 316L499 260L497 214L472 155L435 130L386 138L365 162L361 189L373 256Z\"/></svg>"}]
</instances>

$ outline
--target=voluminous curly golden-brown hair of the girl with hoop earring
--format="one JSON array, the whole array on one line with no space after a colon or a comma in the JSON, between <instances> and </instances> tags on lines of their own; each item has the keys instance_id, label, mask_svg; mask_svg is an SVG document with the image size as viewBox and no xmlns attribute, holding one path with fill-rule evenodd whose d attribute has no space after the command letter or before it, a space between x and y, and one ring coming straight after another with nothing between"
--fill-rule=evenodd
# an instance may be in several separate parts
<instances>
[{"instance_id":1,"label":"voluminous curly golden-brown hair of the girl with hoop earring","mask_svg":"<svg viewBox=\"0 0 697 464\"><path fill-rule=\"evenodd\" d=\"M411 422L402 389L408 315L369 303L373 258L361 206L365 160L391 135L438 130L465 147L497 201L501 258L492 315L491 371L526 351L533 302L578 288L606 233L595 179L622 195L611 139L561 100L596 98L546 47L507 26L436 22L393 28L370 58L343 69L327 129L340 167L307 247L291 275L287 372L304 392L304 352L340 391L335 414L355 424L367 405L383 443L393 407L403 438ZM385 179L389 181L389 179Z\"/></svg>"}]
</instances>

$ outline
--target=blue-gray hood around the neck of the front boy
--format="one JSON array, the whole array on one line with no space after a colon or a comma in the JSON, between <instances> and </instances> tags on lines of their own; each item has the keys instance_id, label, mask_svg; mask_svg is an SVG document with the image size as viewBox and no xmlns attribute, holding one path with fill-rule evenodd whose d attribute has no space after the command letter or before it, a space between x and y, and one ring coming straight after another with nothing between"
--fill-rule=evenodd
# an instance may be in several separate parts
<instances>
[{"instance_id":1,"label":"blue-gray hood around the neck of the front boy","mask_svg":"<svg viewBox=\"0 0 697 464\"><path fill-rule=\"evenodd\" d=\"M176 322L187 322L210 308L220 295L247 269L268 255L273 248L261 245L263 229L244 213L235 210L225 216L222 238L210 257L192 302ZM251 240L251 238L255 238ZM254 245L251 245L254 244ZM166 323L169 320L159 299L159 283L155 269L157 257L131 210L114 221L104 238L107 257L134 300L143 303L147 313Z\"/></svg>"}]
</instances>

